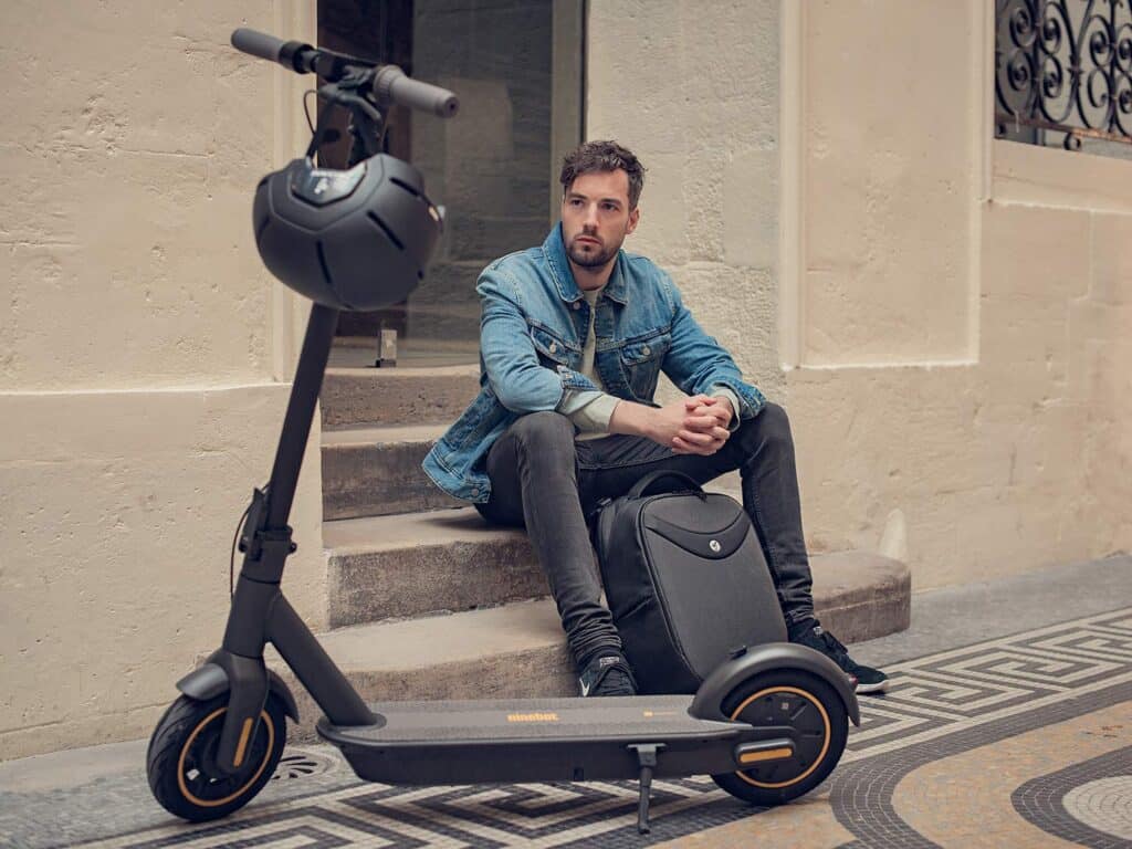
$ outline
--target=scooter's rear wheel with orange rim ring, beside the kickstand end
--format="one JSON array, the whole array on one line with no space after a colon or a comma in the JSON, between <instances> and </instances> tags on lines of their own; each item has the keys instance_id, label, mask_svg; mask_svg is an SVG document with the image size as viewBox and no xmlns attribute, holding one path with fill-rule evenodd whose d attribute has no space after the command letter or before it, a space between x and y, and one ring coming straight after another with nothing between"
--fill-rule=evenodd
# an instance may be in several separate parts
<instances>
[{"instance_id":1,"label":"scooter's rear wheel with orange rim ring, beside the kickstand end","mask_svg":"<svg viewBox=\"0 0 1132 849\"><path fill-rule=\"evenodd\" d=\"M753 726L791 724L800 731L794 757L712 775L731 796L754 805L781 805L813 790L838 765L849 736L841 696L816 676L796 669L756 675L729 693L721 710L724 717Z\"/></svg>"}]
</instances>

